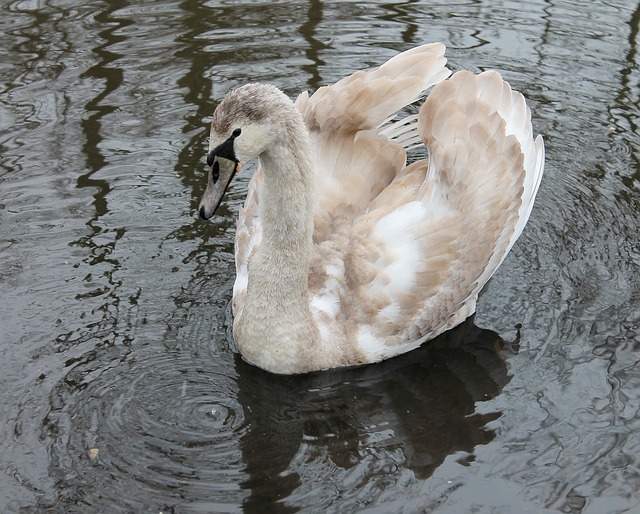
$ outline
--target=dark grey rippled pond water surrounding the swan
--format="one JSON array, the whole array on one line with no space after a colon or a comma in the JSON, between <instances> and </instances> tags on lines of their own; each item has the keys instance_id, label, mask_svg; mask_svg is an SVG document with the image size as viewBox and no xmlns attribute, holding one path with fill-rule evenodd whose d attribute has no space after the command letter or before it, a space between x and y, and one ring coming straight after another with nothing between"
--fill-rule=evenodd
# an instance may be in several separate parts
<instances>
[{"instance_id":1,"label":"dark grey rippled pond water surrounding the swan","mask_svg":"<svg viewBox=\"0 0 640 514\"><path fill-rule=\"evenodd\" d=\"M90 4L1 8L2 512L640 508L640 6ZM528 98L547 167L527 229L475 319L419 351L245 364L249 173L213 223L195 211L216 102L428 41Z\"/></svg>"}]
</instances>

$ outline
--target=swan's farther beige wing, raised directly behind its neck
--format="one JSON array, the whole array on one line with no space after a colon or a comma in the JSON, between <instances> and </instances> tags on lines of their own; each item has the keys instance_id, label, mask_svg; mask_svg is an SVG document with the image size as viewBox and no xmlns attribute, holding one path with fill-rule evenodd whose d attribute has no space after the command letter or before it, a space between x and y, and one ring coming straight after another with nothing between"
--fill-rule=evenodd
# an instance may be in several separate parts
<instances>
[{"instance_id":1,"label":"swan's farther beige wing, raised directly behind its neck","mask_svg":"<svg viewBox=\"0 0 640 514\"><path fill-rule=\"evenodd\" d=\"M422 45L378 68L358 71L311 96L305 92L298 97L296 105L315 148L316 217L361 213L394 179L404 166L405 154L397 141L377 137L379 127L449 76L444 51L441 43ZM416 126L409 132L417 135ZM372 162L363 152L371 152L375 145L381 145L373 149L379 160ZM317 240L325 237L316 231Z\"/></svg>"}]
</instances>

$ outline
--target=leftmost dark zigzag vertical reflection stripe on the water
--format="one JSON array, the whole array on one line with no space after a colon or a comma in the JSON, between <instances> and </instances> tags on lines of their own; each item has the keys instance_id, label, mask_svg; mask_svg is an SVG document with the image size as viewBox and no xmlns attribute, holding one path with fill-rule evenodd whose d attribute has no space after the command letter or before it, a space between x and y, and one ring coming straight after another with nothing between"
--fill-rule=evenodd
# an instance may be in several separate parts
<instances>
[{"instance_id":1,"label":"leftmost dark zigzag vertical reflection stripe on the water","mask_svg":"<svg viewBox=\"0 0 640 514\"><path fill-rule=\"evenodd\" d=\"M78 192L85 194L86 191L87 197L93 197L93 215L85 222L88 233L69 242L69 246L86 250L82 268L76 264L79 271L87 270L83 277L86 289L76 295L76 300L82 302L100 298L101 305L92 312L95 315L94 319L83 327L84 330L58 334L56 343L62 347L80 343L90 343L90 346L96 347L118 343L128 345L133 340L130 312L140 297L140 288L134 286L127 296L120 291L122 283L116 279L122 267L116 256L116 245L128 228L108 226L103 220L109 214L108 198L112 193L112 184L97 176L108 164L106 156L101 151L104 142L103 119L118 110L113 102L108 101L108 97L123 84L124 70L117 63L123 55L112 52L109 48L124 41L124 37L116 35L116 32L133 23L115 14L126 5L127 2L124 0L110 0L104 10L95 13L96 22L106 28L98 33L99 44L92 48L92 52L98 57L96 64L87 68L80 76L82 80L94 85L98 91L86 102L85 114L80 120L85 137L81 149L86 162L84 171L76 178ZM72 365L76 359L90 361L94 356L95 350L91 350L81 357L67 360L65 365Z\"/></svg>"}]
</instances>

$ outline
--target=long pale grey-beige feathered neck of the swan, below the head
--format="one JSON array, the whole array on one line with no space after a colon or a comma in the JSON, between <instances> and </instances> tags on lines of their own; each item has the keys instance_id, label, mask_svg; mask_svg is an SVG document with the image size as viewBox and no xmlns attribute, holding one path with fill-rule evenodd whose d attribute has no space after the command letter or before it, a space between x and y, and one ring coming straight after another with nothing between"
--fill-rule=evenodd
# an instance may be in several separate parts
<instances>
[{"instance_id":1,"label":"long pale grey-beige feathered neck of the swan, below the head","mask_svg":"<svg viewBox=\"0 0 640 514\"><path fill-rule=\"evenodd\" d=\"M260 156L262 242L249 266L245 308L236 327L243 355L280 373L305 371L304 353L317 340L308 299L313 157L301 117L288 121L286 137Z\"/></svg>"}]
</instances>

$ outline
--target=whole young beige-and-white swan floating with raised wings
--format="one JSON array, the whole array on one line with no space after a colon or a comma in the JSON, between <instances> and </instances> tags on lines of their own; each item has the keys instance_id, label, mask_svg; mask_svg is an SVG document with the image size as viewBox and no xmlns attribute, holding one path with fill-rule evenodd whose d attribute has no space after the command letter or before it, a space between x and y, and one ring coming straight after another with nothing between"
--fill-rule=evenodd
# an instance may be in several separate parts
<instances>
[{"instance_id":1,"label":"whole young beige-and-white swan floating with raised wings","mask_svg":"<svg viewBox=\"0 0 640 514\"><path fill-rule=\"evenodd\" d=\"M524 97L453 75L431 43L304 92L229 92L213 113L211 218L258 159L235 235L233 338L279 374L374 363L472 315L520 236L544 168ZM449 78L450 77L450 78ZM398 111L431 89L417 115ZM407 164L407 149L428 157Z\"/></svg>"}]
</instances>

